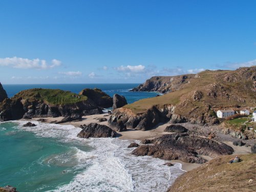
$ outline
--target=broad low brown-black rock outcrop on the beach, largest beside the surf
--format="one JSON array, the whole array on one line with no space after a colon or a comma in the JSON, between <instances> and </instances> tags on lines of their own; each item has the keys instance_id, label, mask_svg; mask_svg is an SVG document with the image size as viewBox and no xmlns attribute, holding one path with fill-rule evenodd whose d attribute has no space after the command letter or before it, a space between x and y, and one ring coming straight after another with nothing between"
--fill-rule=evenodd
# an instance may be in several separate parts
<instances>
[{"instance_id":1,"label":"broad low brown-black rock outcrop on the beach, largest beside the surf","mask_svg":"<svg viewBox=\"0 0 256 192\"><path fill-rule=\"evenodd\" d=\"M206 160L198 155L212 158L219 155L230 155L233 148L216 141L191 136L188 134L163 135L151 140L151 144L140 145L132 154L136 156L153 156L164 160L181 160L187 163L205 163Z\"/></svg>"}]
</instances>

